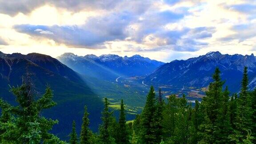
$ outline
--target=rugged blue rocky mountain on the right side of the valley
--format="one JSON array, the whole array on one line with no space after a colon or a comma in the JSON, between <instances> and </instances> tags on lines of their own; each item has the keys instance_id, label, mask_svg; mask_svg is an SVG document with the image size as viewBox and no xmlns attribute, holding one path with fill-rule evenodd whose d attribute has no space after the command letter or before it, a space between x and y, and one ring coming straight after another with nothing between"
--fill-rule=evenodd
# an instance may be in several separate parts
<instances>
[{"instance_id":1,"label":"rugged blue rocky mountain on the right side of the valley","mask_svg":"<svg viewBox=\"0 0 256 144\"><path fill-rule=\"evenodd\" d=\"M240 91L244 67L248 67L250 88L256 86L256 58L252 55L222 55L220 52L209 52L206 55L188 60L174 60L157 68L145 78L147 83L173 85L179 88L207 87L212 82L216 67L220 68L225 85L232 92Z\"/></svg>"}]
</instances>

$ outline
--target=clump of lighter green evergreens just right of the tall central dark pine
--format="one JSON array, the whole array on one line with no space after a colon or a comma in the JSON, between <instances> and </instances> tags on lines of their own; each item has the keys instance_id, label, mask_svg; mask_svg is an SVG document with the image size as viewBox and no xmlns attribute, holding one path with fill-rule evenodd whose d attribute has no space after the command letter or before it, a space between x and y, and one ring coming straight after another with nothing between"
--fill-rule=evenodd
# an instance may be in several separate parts
<instances>
[{"instance_id":1,"label":"clump of lighter green evergreens just right of the tall central dark pine","mask_svg":"<svg viewBox=\"0 0 256 144\"><path fill-rule=\"evenodd\" d=\"M164 109L164 140L167 143L192 143L196 130L192 120L196 120L191 104L185 95L177 98L172 95ZM193 118L194 117L194 118ZM196 122L195 122L196 123ZM194 140L196 141L196 140Z\"/></svg>"}]
</instances>

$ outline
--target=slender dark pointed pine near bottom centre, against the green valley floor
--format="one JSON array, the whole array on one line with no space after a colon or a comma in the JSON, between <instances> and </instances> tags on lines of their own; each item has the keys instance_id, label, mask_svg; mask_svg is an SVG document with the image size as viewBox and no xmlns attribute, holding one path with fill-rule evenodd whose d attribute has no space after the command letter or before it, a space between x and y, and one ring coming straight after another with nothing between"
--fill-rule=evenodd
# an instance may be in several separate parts
<instances>
[{"instance_id":1,"label":"slender dark pointed pine near bottom centre, against the green valley floor","mask_svg":"<svg viewBox=\"0 0 256 144\"><path fill-rule=\"evenodd\" d=\"M125 112L124 112L124 101L121 100L120 105L120 116L118 125L118 140L117 144L128 144L128 129L126 127Z\"/></svg>"}]
</instances>

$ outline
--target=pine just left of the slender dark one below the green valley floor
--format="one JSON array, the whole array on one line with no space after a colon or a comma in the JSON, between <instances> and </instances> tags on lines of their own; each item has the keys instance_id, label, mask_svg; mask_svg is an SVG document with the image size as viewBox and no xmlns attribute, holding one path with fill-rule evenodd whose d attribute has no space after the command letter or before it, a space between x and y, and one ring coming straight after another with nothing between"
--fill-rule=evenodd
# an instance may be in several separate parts
<instances>
[{"instance_id":1,"label":"pine just left of the slender dark one below the green valley floor","mask_svg":"<svg viewBox=\"0 0 256 144\"><path fill-rule=\"evenodd\" d=\"M100 131L100 143L103 144L113 144L115 139L112 136L112 130L113 130L113 119L114 117L113 112L109 111L109 102L107 98L104 98L104 109L103 112L101 112L102 117L102 124L100 125L99 131Z\"/></svg>"}]
</instances>

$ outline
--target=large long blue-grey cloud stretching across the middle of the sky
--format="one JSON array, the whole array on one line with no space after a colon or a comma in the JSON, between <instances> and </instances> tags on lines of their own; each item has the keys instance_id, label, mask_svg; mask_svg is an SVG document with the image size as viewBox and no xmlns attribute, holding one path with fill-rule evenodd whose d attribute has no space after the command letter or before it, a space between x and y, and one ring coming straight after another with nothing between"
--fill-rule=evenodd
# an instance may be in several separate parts
<instances>
[{"instance_id":1,"label":"large long blue-grey cloud stretching across the middle of the sky","mask_svg":"<svg viewBox=\"0 0 256 144\"><path fill-rule=\"evenodd\" d=\"M147 18L149 17L149 18ZM90 17L85 24L76 26L46 26L21 24L13 28L36 38L52 39L59 44L78 48L103 45L104 42L124 40L130 37L141 43L145 36L162 31L165 24L180 20L183 16L170 11L133 15L131 12L110 13L104 16ZM132 25L140 28L132 29ZM179 36L177 36L179 37ZM164 38L168 38L164 37ZM173 39L177 39L173 37Z\"/></svg>"}]
</instances>

